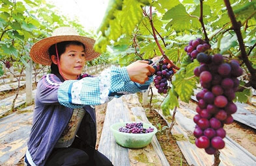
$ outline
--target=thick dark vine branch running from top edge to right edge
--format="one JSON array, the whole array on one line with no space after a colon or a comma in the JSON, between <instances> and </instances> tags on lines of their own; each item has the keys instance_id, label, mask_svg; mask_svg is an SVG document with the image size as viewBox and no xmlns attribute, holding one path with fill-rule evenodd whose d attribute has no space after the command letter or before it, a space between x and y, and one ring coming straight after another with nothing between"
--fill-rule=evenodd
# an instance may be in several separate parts
<instances>
[{"instance_id":1,"label":"thick dark vine branch running from top edge to right edge","mask_svg":"<svg viewBox=\"0 0 256 166\"><path fill-rule=\"evenodd\" d=\"M256 89L256 69L254 69L251 65L251 62L249 62L248 60L248 54L246 54L246 48L244 46L244 40L242 38L242 33L240 31L240 27L241 27L241 23L236 21L235 18L235 14L233 12L233 9L231 7L231 4L229 2L229 0L223 0L225 3L225 6L227 7L227 13L229 14L229 18L231 19L231 23L233 25L233 29L235 30L237 39L238 39L238 43L240 45L240 51L241 54L239 56L239 58L242 59L242 61L244 62L244 64L246 65L246 67L249 70L249 73L251 74L251 78L250 78L250 84L251 86Z\"/></svg>"}]
</instances>

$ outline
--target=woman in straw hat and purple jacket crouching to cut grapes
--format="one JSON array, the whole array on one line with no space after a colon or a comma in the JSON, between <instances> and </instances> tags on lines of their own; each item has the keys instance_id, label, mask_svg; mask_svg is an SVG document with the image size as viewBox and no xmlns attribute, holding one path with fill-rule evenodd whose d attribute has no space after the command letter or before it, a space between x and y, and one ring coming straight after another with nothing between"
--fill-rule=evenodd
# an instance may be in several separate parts
<instances>
[{"instance_id":1,"label":"woman in straw hat and purple jacket crouching to cut grapes","mask_svg":"<svg viewBox=\"0 0 256 166\"><path fill-rule=\"evenodd\" d=\"M76 30L61 27L31 48L32 60L51 65L51 73L40 79L36 89L25 165L112 165L95 150L93 105L147 89L154 68L143 60L111 67L98 77L81 75L85 62L100 55L93 44Z\"/></svg>"}]
</instances>

